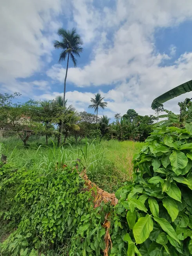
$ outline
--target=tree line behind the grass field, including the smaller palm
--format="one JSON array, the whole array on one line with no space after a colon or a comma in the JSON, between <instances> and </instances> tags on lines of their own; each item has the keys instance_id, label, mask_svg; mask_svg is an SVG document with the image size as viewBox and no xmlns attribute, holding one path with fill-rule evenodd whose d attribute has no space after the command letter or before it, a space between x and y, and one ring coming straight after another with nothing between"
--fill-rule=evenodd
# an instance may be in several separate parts
<instances>
[{"instance_id":1,"label":"tree line behind the grass field, including the smaller palm","mask_svg":"<svg viewBox=\"0 0 192 256\"><path fill-rule=\"evenodd\" d=\"M27 145L34 134L45 136L46 143L49 137L54 136L58 144L67 141L78 143L85 137L144 141L157 119L153 115L141 116L134 109L129 109L123 116L115 114L115 121L110 123L110 118L106 115L98 116L98 109L107 106L107 102L103 102L104 97L99 93L91 98L92 104L89 105L96 114L78 112L72 105L67 104L67 100L63 106L61 96L49 101L29 100L14 103L20 95L0 94L0 127L3 131L18 134L24 145Z\"/></svg>"}]
</instances>

